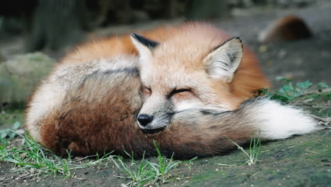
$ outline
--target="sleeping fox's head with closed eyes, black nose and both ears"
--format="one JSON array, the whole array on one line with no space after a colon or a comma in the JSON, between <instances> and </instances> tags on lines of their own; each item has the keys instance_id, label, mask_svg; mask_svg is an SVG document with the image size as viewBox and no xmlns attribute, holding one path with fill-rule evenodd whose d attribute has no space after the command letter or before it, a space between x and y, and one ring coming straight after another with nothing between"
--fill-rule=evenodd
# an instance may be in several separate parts
<instances>
[{"instance_id":1,"label":"sleeping fox's head with closed eyes, black nose and both ears","mask_svg":"<svg viewBox=\"0 0 331 187\"><path fill-rule=\"evenodd\" d=\"M144 103L137 120L144 132L163 130L180 111L236 109L229 84L243 58L239 38L216 46L156 42L137 34L132 34L131 40L139 52Z\"/></svg>"}]
</instances>

